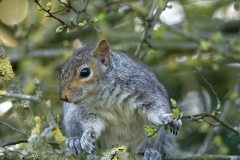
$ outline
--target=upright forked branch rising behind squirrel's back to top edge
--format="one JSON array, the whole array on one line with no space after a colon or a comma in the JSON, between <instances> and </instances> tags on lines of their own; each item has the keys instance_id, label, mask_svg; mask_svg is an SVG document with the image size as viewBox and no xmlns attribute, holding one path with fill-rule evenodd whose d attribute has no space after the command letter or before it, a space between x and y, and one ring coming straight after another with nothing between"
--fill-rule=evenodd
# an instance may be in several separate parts
<instances>
[{"instance_id":1,"label":"upright forked branch rising behind squirrel's back to top edge","mask_svg":"<svg viewBox=\"0 0 240 160\"><path fill-rule=\"evenodd\" d=\"M139 56L140 50L141 50L142 46L144 45L144 43L146 44L146 47L145 47L145 53L141 57L142 60L144 59L144 57L147 54L148 47L152 48L152 46L149 43L148 39L151 37L152 30L153 30L155 24L157 23L157 21L159 20L159 17L161 15L161 13L168 7L167 4L168 4L169 1L170 0L166 0L164 6L162 8L158 8L157 9L154 19L153 19L153 15L154 15L155 9L158 7L158 5L157 5L158 0L154 0L153 1L151 10L149 11L148 16L146 17L146 21L144 22L145 30L144 30L144 32L143 32L143 34L141 36L140 42L139 42L139 44L137 46L137 49L135 51L135 54L134 54L136 57Z\"/></svg>"}]
</instances>

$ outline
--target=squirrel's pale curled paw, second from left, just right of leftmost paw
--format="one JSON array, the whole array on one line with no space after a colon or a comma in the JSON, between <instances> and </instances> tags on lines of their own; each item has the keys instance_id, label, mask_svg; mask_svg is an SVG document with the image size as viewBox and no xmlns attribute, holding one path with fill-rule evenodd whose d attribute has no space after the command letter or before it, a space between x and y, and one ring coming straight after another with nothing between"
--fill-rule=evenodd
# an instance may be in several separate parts
<instances>
[{"instance_id":1,"label":"squirrel's pale curled paw, second from left, just right of leftmost paw","mask_svg":"<svg viewBox=\"0 0 240 160\"><path fill-rule=\"evenodd\" d=\"M88 153L93 153L95 151L95 141L96 133L93 129L86 130L81 138L81 147L84 151Z\"/></svg>"}]
</instances>

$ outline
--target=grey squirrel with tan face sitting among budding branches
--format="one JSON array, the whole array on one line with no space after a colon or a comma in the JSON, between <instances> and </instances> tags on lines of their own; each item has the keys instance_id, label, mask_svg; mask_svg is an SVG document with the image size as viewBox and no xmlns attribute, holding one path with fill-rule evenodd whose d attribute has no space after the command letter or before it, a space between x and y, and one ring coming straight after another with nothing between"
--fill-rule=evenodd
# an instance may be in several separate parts
<instances>
[{"instance_id":1,"label":"grey squirrel with tan face sitting among budding branches","mask_svg":"<svg viewBox=\"0 0 240 160\"><path fill-rule=\"evenodd\" d=\"M156 76L125 53L112 51L106 40L96 46L74 41L74 54L62 68L59 97L63 102L66 145L74 156L96 147L123 145L144 160L160 160L176 151L176 141L161 127L156 139L144 127L168 125L176 135L167 92Z\"/></svg>"}]
</instances>

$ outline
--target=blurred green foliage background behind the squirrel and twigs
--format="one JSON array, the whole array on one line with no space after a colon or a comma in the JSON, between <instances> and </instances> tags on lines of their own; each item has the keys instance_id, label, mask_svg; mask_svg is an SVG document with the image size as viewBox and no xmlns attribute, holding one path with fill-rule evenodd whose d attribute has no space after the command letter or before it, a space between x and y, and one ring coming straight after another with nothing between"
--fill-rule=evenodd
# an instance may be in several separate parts
<instances>
[{"instance_id":1,"label":"blurred green foliage background behind the squirrel and twigs","mask_svg":"<svg viewBox=\"0 0 240 160\"><path fill-rule=\"evenodd\" d=\"M63 8L57 0L39 2L43 7L52 2L51 11ZM158 5L163 3L158 1ZM78 0L73 6L81 9L83 4ZM98 22L56 33L61 24L45 17L33 0L0 0L0 41L25 93L35 94L33 81L39 79L44 98L51 100L51 110L57 115L61 114L58 79L61 67L72 55L74 39L86 45L105 38L113 50L134 54L151 5L152 1L144 0L90 1L87 12ZM75 17L74 12L61 13L56 15L67 23ZM81 14L78 22L86 18ZM150 47L144 44L139 58L147 53L143 62L156 73L184 115L212 113L217 108L212 87L221 102L221 119L240 130L239 31L238 0L170 0L148 39ZM0 97L0 120L21 129L8 101ZM31 106L35 115L43 115L38 103L31 102ZM0 126L0 144L19 138L19 133ZM177 139L181 157L240 153L237 135L205 122L183 119Z\"/></svg>"}]
</instances>

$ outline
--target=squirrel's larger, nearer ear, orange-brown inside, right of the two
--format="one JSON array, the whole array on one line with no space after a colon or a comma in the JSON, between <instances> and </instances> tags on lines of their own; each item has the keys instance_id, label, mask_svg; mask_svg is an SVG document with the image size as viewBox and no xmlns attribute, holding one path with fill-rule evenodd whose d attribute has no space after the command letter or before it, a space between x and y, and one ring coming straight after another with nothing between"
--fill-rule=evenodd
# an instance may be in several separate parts
<instances>
[{"instance_id":1,"label":"squirrel's larger, nearer ear, orange-brown inside, right of the two","mask_svg":"<svg viewBox=\"0 0 240 160\"><path fill-rule=\"evenodd\" d=\"M101 40L93 50L94 57L96 57L106 66L110 63L109 54L110 54L109 45L105 39Z\"/></svg>"}]
</instances>

